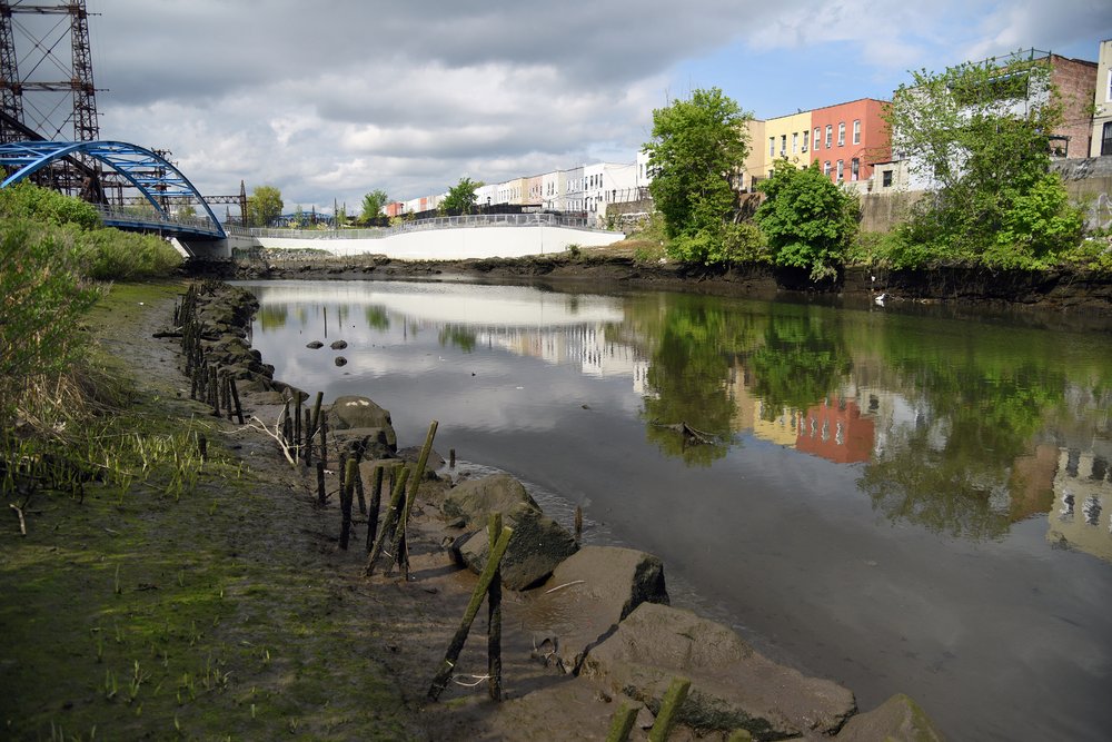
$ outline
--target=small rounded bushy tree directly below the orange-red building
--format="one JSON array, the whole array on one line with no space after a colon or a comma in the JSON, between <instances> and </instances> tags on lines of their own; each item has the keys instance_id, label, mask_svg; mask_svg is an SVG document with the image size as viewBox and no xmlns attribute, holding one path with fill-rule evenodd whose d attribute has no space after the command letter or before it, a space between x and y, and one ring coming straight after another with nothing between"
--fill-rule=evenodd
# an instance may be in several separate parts
<instances>
[{"instance_id":1,"label":"small rounded bushy tree directly below the orange-red building","mask_svg":"<svg viewBox=\"0 0 1112 742\"><path fill-rule=\"evenodd\" d=\"M768 238L776 265L811 270L812 280L833 277L857 235L857 199L818 169L778 160L757 186L767 198L754 220Z\"/></svg>"}]
</instances>

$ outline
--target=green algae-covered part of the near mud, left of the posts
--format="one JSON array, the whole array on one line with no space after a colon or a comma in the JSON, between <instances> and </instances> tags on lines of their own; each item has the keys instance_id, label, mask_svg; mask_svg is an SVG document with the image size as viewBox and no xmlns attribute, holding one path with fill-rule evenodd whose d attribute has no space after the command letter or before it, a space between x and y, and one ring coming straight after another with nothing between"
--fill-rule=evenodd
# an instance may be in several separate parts
<instances>
[{"instance_id":1,"label":"green algae-covered part of the near mud, left of the posts","mask_svg":"<svg viewBox=\"0 0 1112 742\"><path fill-rule=\"evenodd\" d=\"M14 518L0 530L0 736L416 736L368 659L365 604L321 578L328 555L298 531L322 527L288 467L229 437L151 339L182 288L117 284L88 325L101 365L131 377L110 429L182 455L202 432L209 456L177 484L152 466L82 499L39 494L26 537Z\"/></svg>"}]
</instances>

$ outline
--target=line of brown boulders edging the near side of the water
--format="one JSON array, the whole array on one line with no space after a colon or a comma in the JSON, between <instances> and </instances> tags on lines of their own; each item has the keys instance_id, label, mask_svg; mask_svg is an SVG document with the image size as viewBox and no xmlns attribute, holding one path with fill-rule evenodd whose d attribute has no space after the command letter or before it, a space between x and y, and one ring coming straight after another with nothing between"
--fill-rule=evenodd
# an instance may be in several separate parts
<instances>
[{"instance_id":1,"label":"line of brown boulders edging the near side of the water","mask_svg":"<svg viewBox=\"0 0 1112 742\"><path fill-rule=\"evenodd\" d=\"M375 266L376 270L383 267ZM309 397L275 379L274 368L246 339L258 308L249 291L209 280L196 296L206 360L236 379L246 412L274 421L287 399ZM373 400L342 397L322 406L321 415L327 422L330 465L341 456L359 459L363 482L373 482L376 468L417 467L416 452L398 449L389 413ZM275 455L279 455L277 446ZM327 478L325 489L337 491L337 473L329 471ZM306 481L311 479L307 476ZM339 530L339 508L335 503L326 507L337 512ZM460 476L437 461L421 473L414 512L407 534L410 580L396 574L368 580L373 588L383 590L424 582L428 592L423 615L435 615L434 604L445 597L441 591L455 590L457 598L466 595L474 583L464 578L466 571L477 574L486 565L490 513L502 513L514 528L502 563L504 586L510 591L505 598L509 620L503 640L506 700L486 702L484 686L453 691L455 703L423 709L439 730L431 733L434 738L445 730L451 730L448 736L465 739L480 730L499 729L513 739L569 739L566 730L538 728L535 720L528 730L523 725L536 713L567 709L573 699L588 706L578 720L592 726L577 730L575 739L603 739L605 721L586 720L609 719L622 704L639 709L642 731L635 735L643 734L659 713L672 681L686 677L691 692L681 708L682 728L672 739L726 739L737 733L759 740L941 739L922 709L905 695L893 695L878 708L858 713L848 689L776 664L732 629L669 606L665 567L657 557L579 544L508 475ZM433 574L437 580L423 576ZM450 612L440 615L437 623L443 625L433 633L447 637L456 621ZM471 643L480 640L475 636ZM429 653L428 646L419 650ZM418 647L397 647L398 653L410 651ZM409 694L414 691L409 689Z\"/></svg>"}]
</instances>

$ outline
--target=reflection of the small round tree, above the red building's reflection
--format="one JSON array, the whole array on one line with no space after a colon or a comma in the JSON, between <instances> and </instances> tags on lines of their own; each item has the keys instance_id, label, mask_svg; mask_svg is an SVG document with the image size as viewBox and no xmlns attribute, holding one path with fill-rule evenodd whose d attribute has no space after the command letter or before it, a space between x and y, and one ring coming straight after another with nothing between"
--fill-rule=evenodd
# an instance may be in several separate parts
<instances>
[{"instance_id":1,"label":"reflection of the small round tree, above the red building's reflection","mask_svg":"<svg viewBox=\"0 0 1112 742\"><path fill-rule=\"evenodd\" d=\"M785 407L807 409L826 398L853 367L841 325L808 309L770 317L764 344L747 358L753 392L764 400L770 419Z\"/></svg>"}]
</instances>

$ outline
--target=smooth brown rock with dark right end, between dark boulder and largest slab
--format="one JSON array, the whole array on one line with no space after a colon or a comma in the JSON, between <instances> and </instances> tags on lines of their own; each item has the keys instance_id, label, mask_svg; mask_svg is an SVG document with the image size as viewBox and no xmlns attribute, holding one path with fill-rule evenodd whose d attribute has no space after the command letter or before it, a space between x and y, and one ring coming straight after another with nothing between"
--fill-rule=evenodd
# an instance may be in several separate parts
<instances>
[{"instance_id":1,"label":"smooth brown rock with dark right end, between dark boulder and largest slab","mask_svg":"<svg viewBox=\"0 0 1112 742\"><path fill-rule=\"evenodd\" d=\"M577 672L589 647L642 603L668 604L664 563L618 546L584 546L553 571L527 611L548 664Z\"/></svg>"}]
</instances>

